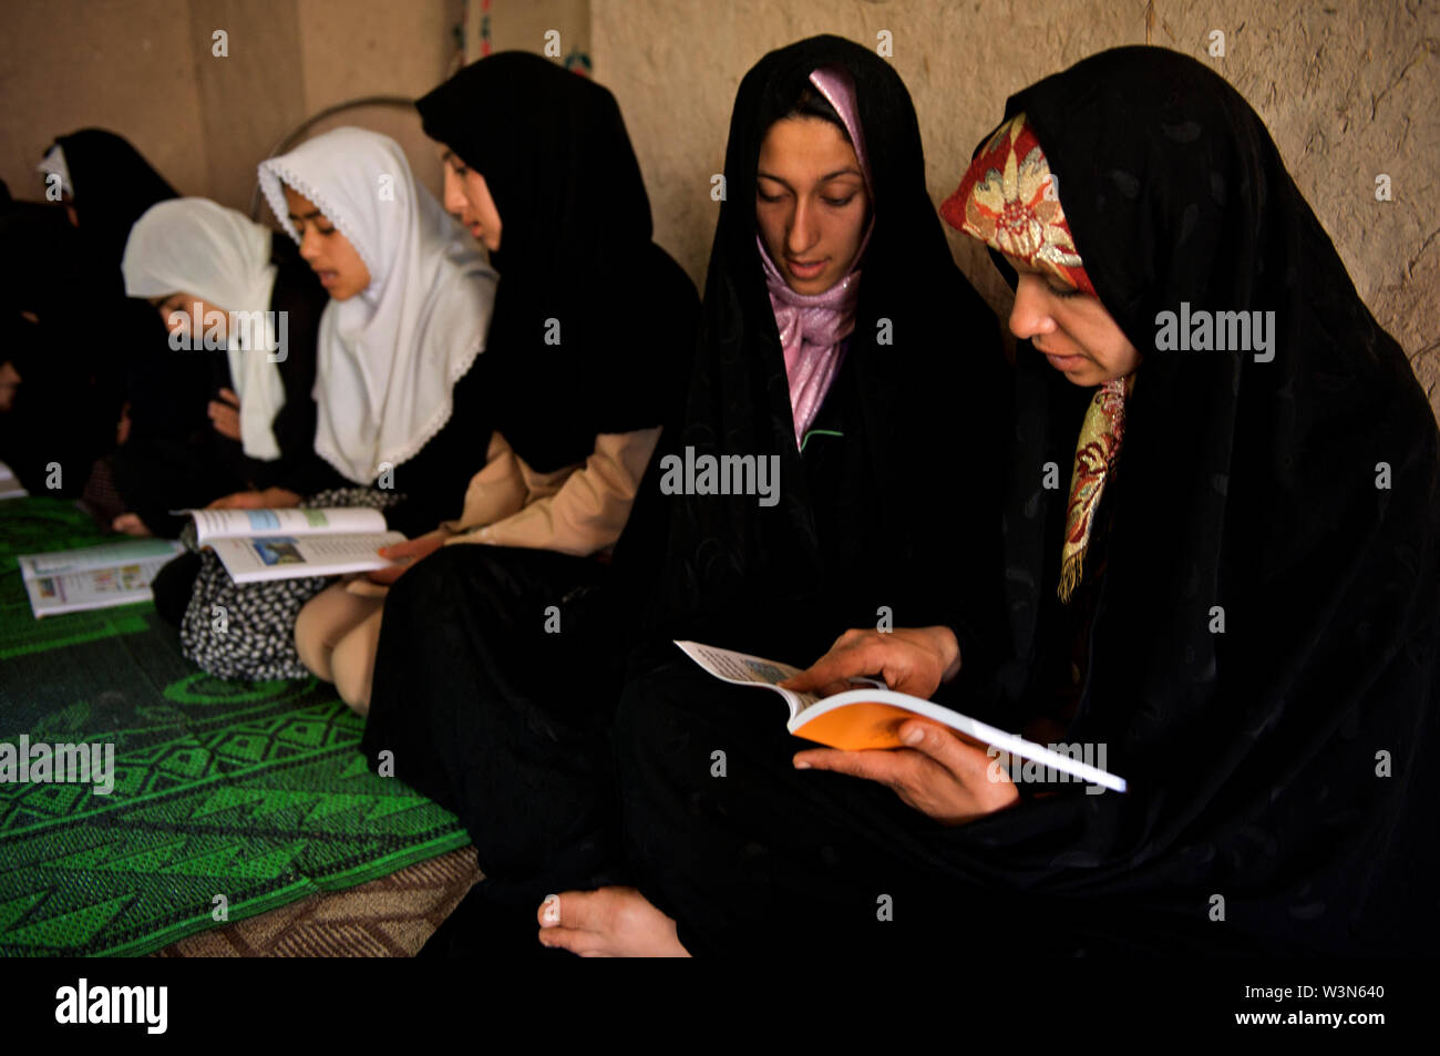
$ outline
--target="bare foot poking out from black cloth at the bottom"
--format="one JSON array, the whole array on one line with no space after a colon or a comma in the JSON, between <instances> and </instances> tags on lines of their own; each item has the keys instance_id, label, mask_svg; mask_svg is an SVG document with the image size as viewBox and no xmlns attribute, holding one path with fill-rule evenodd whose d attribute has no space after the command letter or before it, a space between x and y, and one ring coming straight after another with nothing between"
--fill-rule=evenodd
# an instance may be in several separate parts
<instances>
[{"instance_id":1,"label":"bare foot poking out from black cloth at the bottom","mask_svg":"<svg viewBox=\"0 0 1440 1056\"><path fill-rule=\"evenodd\" d=\"M541 945L580 957L690 957L675 922L634 887L550 895L536 918Z\"/></svg>"}]
</instances>

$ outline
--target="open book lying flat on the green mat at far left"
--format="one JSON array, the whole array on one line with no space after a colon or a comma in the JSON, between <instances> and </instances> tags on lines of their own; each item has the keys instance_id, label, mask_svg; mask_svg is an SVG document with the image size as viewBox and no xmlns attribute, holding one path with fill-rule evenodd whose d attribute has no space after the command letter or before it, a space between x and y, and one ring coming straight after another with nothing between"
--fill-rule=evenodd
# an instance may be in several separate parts
<instances>
[{"instance_id":1,"label":"open book lying flat on the green mat at far left","mask_svg":"<svg viewBox=\"0 0 1440 1056\"><path fill-rule=\"evenodd\" d=\"M150 601L150 581L184 550L170 539L131 539L16 558L36 619Z\"/></svg>"}]
</instances>

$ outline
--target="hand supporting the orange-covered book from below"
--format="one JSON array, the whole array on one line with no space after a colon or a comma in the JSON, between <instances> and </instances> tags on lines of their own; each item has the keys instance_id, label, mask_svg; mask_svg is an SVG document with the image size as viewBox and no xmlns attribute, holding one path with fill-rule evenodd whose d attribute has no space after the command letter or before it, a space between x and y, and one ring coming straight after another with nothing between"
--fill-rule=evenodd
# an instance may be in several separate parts
<instances>
[{"instance_id":1,"label":"hand supporting the orange-covered book from below","mask_svg":"<svg viewBox=\"0 0 1440 1056\"><path fill-rule=\"evenodd\" d=\"M828 769L878 781L922 814L959 825L1009 807L1020 798L1004 766L991 766L984 748L945 726L907 719L900 740L909 748L841 752L814 748L795 753L796 769Z\"/></svg>"}]
</instances>

